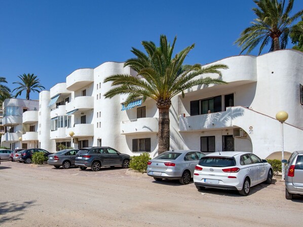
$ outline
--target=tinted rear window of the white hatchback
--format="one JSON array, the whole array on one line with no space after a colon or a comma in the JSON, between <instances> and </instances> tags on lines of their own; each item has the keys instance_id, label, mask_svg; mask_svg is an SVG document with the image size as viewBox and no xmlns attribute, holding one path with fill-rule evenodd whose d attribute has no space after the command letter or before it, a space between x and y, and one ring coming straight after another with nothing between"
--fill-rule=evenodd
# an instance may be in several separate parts
<instances>
[{"instance_id":1,"label":"tinted rear window of the white hatchback","mask_svg":"<svg viewBox=\"0 0 303 227\"><path fill-rule=\"evenodd\" d=\"M235 166L236 160L233 157L202 157L199 161L201 166L228 167Z\"/></svg>"}]
</instances>

